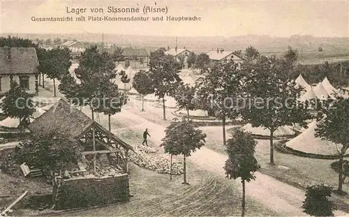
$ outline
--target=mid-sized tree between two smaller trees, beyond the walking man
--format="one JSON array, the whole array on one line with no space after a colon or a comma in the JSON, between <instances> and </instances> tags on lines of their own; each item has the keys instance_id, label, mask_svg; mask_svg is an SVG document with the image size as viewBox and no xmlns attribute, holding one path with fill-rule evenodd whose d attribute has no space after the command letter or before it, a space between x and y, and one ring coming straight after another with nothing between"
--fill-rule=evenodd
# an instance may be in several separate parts
<instances>
[{"instance_id":1,"label":"mid-sized tree between two smaller trees, beyond the walking man","mask_svg":"<svg viewBox=\"0 0 349 217\"><path fill-rule=\"evenodd\" d=\"M153 83L155 96L163 98L163 119L165 114L165 96L174 96L174 92L181 83L179 77L179 63L172 57L162 57L157 61L157 65L150 64L149 77Z\"/></svg>"}]
</instances>

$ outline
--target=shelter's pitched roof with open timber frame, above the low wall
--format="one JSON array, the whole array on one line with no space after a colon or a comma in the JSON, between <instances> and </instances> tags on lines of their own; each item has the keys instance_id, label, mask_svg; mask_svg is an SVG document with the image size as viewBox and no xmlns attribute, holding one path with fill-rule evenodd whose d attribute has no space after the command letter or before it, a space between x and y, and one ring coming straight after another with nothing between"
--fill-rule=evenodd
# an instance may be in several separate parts
<instances>
[{"instance_id":1,"label":"shelter's pitched roof with open timber frame, above the low wall","mask_svg":"<svg viewBox=\"0 0 349 217\"><path fill-rule=\"evenodd\" d=\"M84 147L82 155L94 155L95 173L96 155L108 153L115 153L119 159L118 165L128 172L127 156L133 147L63 99L29 124L28 128L35 135L57 135L80 141Z\"/></svg>"}]
</instances>

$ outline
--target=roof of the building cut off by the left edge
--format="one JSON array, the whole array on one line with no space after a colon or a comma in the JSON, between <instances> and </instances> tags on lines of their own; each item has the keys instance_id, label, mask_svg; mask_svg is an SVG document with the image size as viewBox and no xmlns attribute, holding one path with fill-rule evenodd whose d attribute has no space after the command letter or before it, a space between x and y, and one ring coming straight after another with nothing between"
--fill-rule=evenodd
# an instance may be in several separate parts
<instances>
[{"instance_id":1,"label":"roof of the building cut off by the left edge","mask_svg":"<svg viewBox=\"0 0 349 217\"><path fill-rule=\"evenodd\" d=\"M0 47L0 74L34 74L38 65L34 47Z\"/></svg>"}]
</instances>

